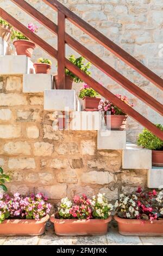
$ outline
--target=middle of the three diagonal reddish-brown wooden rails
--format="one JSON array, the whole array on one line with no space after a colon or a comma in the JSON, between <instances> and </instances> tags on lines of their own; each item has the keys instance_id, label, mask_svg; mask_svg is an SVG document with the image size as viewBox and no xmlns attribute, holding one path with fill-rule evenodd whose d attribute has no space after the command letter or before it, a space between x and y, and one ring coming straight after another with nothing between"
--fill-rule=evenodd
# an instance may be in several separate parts
<instances>
[{"instance_id":1,"label":"middle of the three diagonal reddish-brown wooden rails","mask_svg":"<svg viewBox=\"0 0 163 256\"><path fill-rule=\"evenodd\" d=\"M58 34L58 26L55 25L55 23L53 23L47 17L42 15L39 11L37 11L34 7L32 7L26 1L24 0L11 0L11 1L14 2L22 10L26 11L26 13L34 17L34 19L36 19L37 21L41 21L42 25L46 26L51 32L53 32L54 34ZM64 35L61 36L62 39L63 39L63 36ZM59 38L58 40L60 40ZM85 46L83 46L78 41L73 39L72 36L68 35L67 33L65 33L65 42L69 46L71 46L74 50L76 50L78 53L80 53L83 57L89 60L98 69L100 69L106 75L111 77L112 80L116 81L118 84L121 84L121 86L127 89L128 92L138 97L140 100L145 102L149 107L152 107L159 114L163 115L163 106L160 102L156 101L152 96L144 92L141 88L137 87L134 83L130 82L126 77L121 75L109 64L105 63L101 58L97 57L96 54L93 54ZM58 43L58 45L60 45L60 42ZM63 52L64 47L60 47L60 48L62 48L61 54L64 53ZM61 57L59 59L61 60ZM61 60L58 64L58 68L60 68L60 65L62 65L62 63L63 61ZM61 77L61 78L64 77L63 67L62 67L62 75L61 76L59 75L58 77ZM64 81L62 80L61 84L63 83Z\"/></svg>"}]
</instances>

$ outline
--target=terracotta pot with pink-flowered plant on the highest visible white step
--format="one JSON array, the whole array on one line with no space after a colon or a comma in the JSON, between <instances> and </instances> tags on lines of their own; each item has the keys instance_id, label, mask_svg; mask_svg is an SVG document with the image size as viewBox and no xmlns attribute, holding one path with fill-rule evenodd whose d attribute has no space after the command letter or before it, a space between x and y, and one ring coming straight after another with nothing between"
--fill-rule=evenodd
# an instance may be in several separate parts
<instances>
[{"instance_id":1,"label":"terracotta pot with pink-flowered plant on the highest visible white step","mask_svg":"<svg viewBox=\"0 0 163 256\"><path fill-rule=\"evenodd\" d=\"M28 28L33 33L37 33L37 26L34 26L32 23L28 24ZM31 58L33 54L33 50L36 47L34 42L30 41L26 36L24 36L21 32L13 31L12 35L13 39L17 39L13 42L17 55L26 55Z\"/></svg>"}]
</instances>

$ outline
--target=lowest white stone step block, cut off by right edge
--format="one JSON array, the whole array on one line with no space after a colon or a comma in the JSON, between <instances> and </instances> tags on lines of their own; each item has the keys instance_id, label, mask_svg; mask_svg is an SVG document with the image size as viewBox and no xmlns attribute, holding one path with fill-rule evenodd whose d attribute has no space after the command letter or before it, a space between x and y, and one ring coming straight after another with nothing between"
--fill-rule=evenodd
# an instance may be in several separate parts
<instances>
[{"instance_id":1,"label":"lowest white stone step block, cut off by right edge","mask_svg":"<svg viewBox=\"0 0 163 256\"><path fill-rule=\"evenodd\" d=\"M148 170L147 185L149 188L163 188L163 167L152 166Z\"/></svg>"}]
</instances>

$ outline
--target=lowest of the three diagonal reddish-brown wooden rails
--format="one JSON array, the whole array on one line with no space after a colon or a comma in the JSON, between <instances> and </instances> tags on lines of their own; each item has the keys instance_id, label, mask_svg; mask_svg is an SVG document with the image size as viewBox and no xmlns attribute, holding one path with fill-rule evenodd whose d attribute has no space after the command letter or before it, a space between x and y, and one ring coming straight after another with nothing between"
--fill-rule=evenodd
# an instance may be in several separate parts
<instances>
[{"instance_id":1,"label":"lowest of the three diagonal reddish-brown wooden rails","mask_svg":"<svg viewBox=\"0 0 163 256\"><path fill-rule=\"evenodd\" d=\"M21 22L17 21L14 17L9 15L6 11L0 8L0 16L8 21L12 26L18 29L18 31L22 32L25 36L27 36L30 40L34 41L39 47L45 50L49 55L54 58L58 58L58 51L55 50L52 46L45 43L39 36L29 31L27 27L22 25ZM43 43L44 42L44 43ZM95 81L90 76L86 75L82 70L80 70L77 66L73 65L68 59L65 58L65 66L71 72L80 77L84 82L90 84L90 86L95 89L99 94L104 96L106 99L111 100L117 107L121 108L123 112L128 113L130 117L138 121L143 126L147 127L147 129L153 132L156 136L163 140L163 132L158 129L151 121L143 117L139 112L135 111L135 109L129 107L126 103L118 99L114 94L109 92L108 89L104 88Z\"/></svg>"}]
</instances>

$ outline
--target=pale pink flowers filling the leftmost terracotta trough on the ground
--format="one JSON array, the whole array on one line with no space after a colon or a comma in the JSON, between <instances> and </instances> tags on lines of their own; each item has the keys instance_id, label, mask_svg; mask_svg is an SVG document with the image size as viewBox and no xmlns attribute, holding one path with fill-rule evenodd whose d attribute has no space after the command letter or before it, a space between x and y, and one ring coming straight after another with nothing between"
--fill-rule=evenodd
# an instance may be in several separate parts
<instances>
[{"instance_id":1,"label":"pale pink flowers filling the leftmost terracotta trough on the ground","mask_svg":"<svg viewBox=\"0 0 163 256\"><path fill-rule=\"evenodd\" d=\"M51 209L47 198L42 193L32 194L30 197L22 197L15 193L0 195L0 223L8 218L39 220L45 217Z\"/></svg>"}]
</instances>

